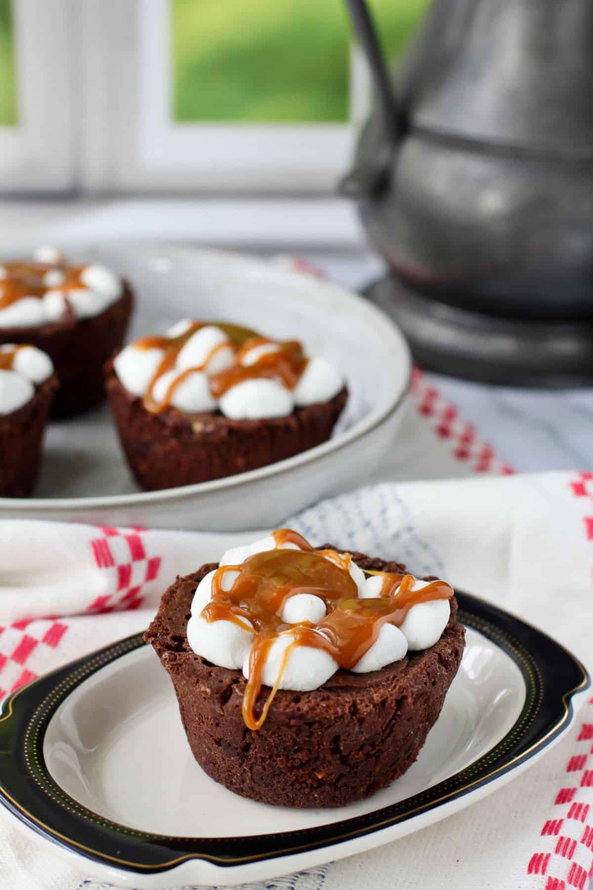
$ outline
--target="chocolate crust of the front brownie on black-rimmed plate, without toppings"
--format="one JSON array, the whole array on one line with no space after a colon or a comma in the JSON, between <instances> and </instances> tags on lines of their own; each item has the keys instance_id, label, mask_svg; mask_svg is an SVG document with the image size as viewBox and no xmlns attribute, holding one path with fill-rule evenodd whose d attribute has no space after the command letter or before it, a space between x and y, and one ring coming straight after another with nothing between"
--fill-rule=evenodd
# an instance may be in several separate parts
<instances>
[{"instance_id":1,"label":"chocolate crust of the front brownie on black-rimmed plate, without toppings","mask_svg":"<svg viewBox=\"0 0 593 890\"><path fill-rule=\"evenodd\" d=\"M352 556L362 569L404 571L397 562ZM241 671L216 667L188 646L196 586L216 567L210 563L177 578L144 636L171 676L190 748L204 772L236 794L294 807L346 805L405 773L461 661L464 629L455 599L430 649L368 674L338 670L313 692L280 690L265 723L252 732L241 711ZM269 692L263 687L260 702Z\"/></svg>"}]
</instances>

